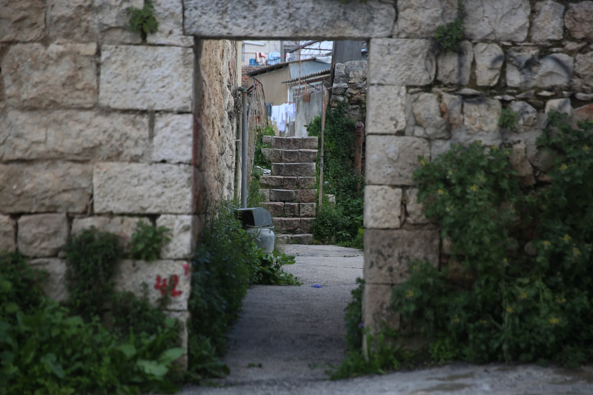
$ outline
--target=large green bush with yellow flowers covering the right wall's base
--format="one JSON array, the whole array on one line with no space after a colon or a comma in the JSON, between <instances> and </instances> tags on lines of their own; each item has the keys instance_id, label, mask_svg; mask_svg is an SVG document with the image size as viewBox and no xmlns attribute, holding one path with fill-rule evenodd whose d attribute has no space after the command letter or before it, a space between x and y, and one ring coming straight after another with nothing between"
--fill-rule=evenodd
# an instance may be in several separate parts
<instances>
[{"instance_id":1,"label":"large green bush with yellow flowers covering the right wall's base","mask_svg":"<svg viewBox=\"0 0 593 395\"><path fill-rule=\"evenodd\" d=\"M474 143L454 146L432 162L420 158L419 200L451 241L451 256L442 267L409 263L409 279L393 289L403 332L375 339L388 336L388 345L397 345L420 335L426 346L416 355L391 349L391 357L371 347L379 356L368 362L350 352L334 375L380 372L418 355L433 362L570 367L591 361L591 132L591 122L573 128L565 115L551 114L538 139L551 158L550 183L524 189L504 148ZM360 335L358 308L347 310L347 339Z\"/></svg>"}]
</instances>

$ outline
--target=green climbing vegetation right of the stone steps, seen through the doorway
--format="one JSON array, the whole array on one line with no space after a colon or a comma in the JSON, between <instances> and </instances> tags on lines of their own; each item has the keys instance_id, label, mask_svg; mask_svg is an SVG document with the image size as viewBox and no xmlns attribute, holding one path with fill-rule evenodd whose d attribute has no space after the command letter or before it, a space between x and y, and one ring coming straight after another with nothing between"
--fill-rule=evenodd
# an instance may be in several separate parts
<instances>
[{"instance_id":1,"label":"green climbing vegetation right of the stone steps, seen through the doorway","mask_svg":"<svg viewBox=\"0 0 593 395\"><path fill-rule=\"evenodd\" d=\"M364 177L353 168L354 122L345 117L346 105L329 109L324 126L323 193L336 196L336 204L324 200L313 222L313 237L320 243L362 248ZM321 117L307 126L310 136L321 133Z\"/></svg>"}]
</instances>

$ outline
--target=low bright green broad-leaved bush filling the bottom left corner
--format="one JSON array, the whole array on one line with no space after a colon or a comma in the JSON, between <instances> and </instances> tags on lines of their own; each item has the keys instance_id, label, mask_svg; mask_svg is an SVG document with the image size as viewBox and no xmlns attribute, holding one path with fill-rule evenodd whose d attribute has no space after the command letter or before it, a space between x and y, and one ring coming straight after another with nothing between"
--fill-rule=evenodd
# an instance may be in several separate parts
<instances>
[{"instance_id":1,"label":"low bright green broad-leaved bush filling the bottom left corner","mask_svg":"<svg viewBox=\"0 0 593 395\"><path fill-rule=\"evenodd\" d=\"M0 257L0 394L172 393L171 331L113 336L42 295L19 254ZM177 336L177 333L175 333Z\"/></svg>"}]
</instances>

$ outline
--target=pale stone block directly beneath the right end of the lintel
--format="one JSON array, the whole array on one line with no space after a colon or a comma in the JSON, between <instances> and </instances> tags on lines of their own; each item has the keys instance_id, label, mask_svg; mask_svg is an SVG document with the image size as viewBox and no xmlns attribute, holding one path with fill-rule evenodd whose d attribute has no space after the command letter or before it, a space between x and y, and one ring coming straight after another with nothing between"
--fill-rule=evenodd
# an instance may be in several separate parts
<instances>
[{"instance_id":1,"label":"pale stone block directly beneath the right end of the lintel","mask_svg":"<svg viewBox=\"0 0 593 395\"><path fill-rule=\"evenodd\" d=\"M432 46L424 39L371 39L369 84L430 84L436 72Z\"/></svg>"}]
</instances>

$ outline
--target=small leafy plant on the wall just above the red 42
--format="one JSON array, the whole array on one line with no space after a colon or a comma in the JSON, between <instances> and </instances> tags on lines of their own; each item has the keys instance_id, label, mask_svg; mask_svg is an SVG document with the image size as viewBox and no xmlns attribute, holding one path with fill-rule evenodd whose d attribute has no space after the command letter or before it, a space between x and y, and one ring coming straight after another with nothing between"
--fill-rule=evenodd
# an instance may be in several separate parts
<instances>
[{"instance_id":1,"label":"small leafy plant on the wall just above the red 42","mask_svg":"<svg viewBox=\"0 0 593 395\"><path fill-rule=\"evenodd\" d=\"M128 244L130 256L133 259L157 260L163 244L171 241L167 236L170 229L154 227L144 221L136 222L136 231L132 234Z\"/></svg>"}]
</instances>

